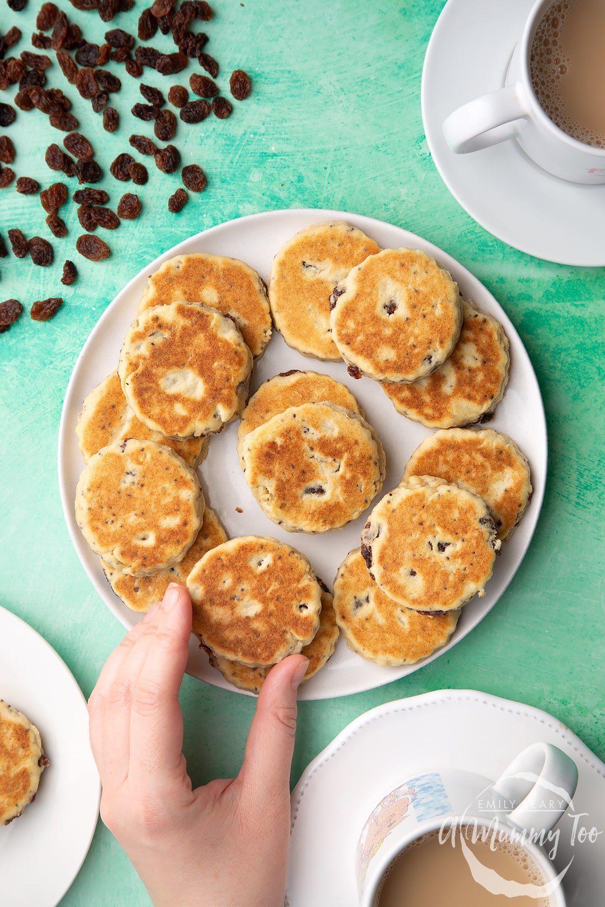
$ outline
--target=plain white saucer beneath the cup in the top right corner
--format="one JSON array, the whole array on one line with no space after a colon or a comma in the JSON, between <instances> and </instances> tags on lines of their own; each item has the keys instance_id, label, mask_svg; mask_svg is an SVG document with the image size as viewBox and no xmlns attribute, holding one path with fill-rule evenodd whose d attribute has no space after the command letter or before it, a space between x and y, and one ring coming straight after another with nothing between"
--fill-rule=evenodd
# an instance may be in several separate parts
<instances>
[{"instance_id":1,"label":"plain white saucer beneath the cup in the top right corner","mask_svg":"<svg viewBox=\"0 0 605 907\"><path fill-rule=\"evenodd\" d=\"M605 265L605 184L542 171L516 141L454 154L448 114L501 88L534 0L448 0L424 57L424 132L437 170L464 210L515 249L565 265Z\"/></svg>"}]
</instances>

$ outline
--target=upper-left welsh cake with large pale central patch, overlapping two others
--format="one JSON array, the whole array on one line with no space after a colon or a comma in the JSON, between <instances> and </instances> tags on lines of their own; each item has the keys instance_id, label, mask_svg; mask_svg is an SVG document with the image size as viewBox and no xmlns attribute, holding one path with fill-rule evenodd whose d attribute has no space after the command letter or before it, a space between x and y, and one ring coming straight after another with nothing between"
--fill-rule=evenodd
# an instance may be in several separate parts
<instances>
[{"instance_id":1,"label":"upper-left welsh cake with large pale central patch, overlapping two others","mask_svg":"<svg viewBox=\"0 0 605 907\"><path fill-rule=\"evenodd\" d=\"M248 395L252 356L233 321L174 302L132 322L118 374L132 411L169 437L220 432Z\"/></svg>"}]
</instances>

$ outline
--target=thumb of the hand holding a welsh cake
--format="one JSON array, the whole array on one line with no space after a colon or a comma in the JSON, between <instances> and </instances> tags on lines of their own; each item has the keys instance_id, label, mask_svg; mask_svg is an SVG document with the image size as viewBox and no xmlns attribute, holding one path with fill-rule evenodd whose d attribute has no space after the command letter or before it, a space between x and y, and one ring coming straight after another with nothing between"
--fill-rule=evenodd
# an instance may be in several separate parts
<instances>
[{"instance_id":1,"label":"thumb of the hand holding a welsh cake","mask_svg":"<svg viewBox=\"0 0 605 907\"><path fill-rule=\"evenodd\" d=\"M258 803L289 797L290 765L297 728L297 689L308 658L290 655L268 672L250 725L239 780Z\"/></svg>"}]
</instances>

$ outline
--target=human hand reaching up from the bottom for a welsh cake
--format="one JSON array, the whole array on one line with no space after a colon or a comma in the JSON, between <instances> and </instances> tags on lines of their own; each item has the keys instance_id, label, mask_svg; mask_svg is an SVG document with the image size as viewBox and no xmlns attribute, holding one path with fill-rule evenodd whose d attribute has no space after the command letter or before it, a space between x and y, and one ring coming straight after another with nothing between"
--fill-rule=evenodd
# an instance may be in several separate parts
<instances>
[{"instance_id":1,"label":"human hand reaching up from the bottom for a welsh cake","mask_svg":"<svg viewBox=\"0 0 605 907\"><path fill-rule=\"evenodd\" d=\"M179 688L191 602L172 583L108 658L89 700L101 815L155 907L283 907L297 688L291 655L259 694L237 778L193 790Z\"/></svg>"}]
</instances>

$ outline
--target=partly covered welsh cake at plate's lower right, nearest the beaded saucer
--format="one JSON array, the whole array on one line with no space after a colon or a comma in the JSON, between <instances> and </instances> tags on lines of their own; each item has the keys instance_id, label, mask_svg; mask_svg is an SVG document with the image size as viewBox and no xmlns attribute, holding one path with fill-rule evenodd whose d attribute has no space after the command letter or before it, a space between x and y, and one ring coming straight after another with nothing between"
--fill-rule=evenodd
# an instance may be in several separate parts
<instances>
[{"instance_id":1,"label":"partly covered welsh cake at plate's lower right, nearest the beaded saucer","mask_svg":"<svg viewBox=\"0 0 605 907\"><path fill-rule=\"evenodd\" d=\"M377 665L412 665L441 649L460 611L423 614L389 599L372 579L361 550L350 551L334 580L334 610L346 645Z\"/></svg>"}]
</instances>

